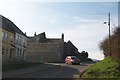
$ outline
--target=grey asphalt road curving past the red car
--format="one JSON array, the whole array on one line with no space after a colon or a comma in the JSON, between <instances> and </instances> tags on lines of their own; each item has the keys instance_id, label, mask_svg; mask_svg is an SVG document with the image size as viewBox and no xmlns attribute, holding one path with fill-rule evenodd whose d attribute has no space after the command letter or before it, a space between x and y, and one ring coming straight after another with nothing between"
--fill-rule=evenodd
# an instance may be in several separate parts
<instances>
[{"instance_id":1,"label":"grey asphalt road curving past the red car","mask_svg":"<svg viewBox=\"0 0 120 80\"><path fill-rule=\"evenodd\" d=\"M64 63L48 63L47 65L54 65L54 67L15 75L12 78L79 78L81 72L92 64L81 63L80 65L68 65Z\"/></svg>"}]
</instances>

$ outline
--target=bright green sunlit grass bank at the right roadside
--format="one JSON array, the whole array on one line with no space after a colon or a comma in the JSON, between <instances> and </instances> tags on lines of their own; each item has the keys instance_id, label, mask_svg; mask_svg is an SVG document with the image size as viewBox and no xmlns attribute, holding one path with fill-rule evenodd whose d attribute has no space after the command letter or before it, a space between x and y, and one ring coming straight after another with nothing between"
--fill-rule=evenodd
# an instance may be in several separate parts
<instances>
[{"instance_id":1,"label":"bright green sunlit grass bank at the right roadside","mask_svg":"<svg viewBox=\"0 0 120 80\"><path fill-rule=\"evenodd\" d=\"M82 78L120 78L120 62L108 57L95 63L82 75Z\"/></svg>"}]
</instances>

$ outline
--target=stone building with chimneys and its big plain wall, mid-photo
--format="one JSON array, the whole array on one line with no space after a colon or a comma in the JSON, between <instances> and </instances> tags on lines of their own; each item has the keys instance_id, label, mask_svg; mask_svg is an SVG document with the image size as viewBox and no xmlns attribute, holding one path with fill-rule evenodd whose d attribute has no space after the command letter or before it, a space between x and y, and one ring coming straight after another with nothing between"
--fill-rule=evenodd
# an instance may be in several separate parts
<instances>
[{"instance_id":1,"label":"stone building with chimneys and its big plain wall, mid-photo","mask_svg":"<svg viewBox=\"0 0 120 80\"><path fill-rule=\"evenodd\" d=\"M28 37L26 61L59 62L64 56L64 34L61 38L46 38L45 32Z\"/></svg>"}]
</instances>

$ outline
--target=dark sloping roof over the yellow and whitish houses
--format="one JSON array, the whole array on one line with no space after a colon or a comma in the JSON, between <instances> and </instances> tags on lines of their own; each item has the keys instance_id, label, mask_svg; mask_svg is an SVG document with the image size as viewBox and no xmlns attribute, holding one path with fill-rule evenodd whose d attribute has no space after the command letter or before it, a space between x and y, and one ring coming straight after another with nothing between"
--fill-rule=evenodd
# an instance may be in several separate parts
<instances>
[{"instance_id":1,"label":"dark sloping roof over the yellow and whitish houses","mask_svg":"<svg viewBox=\"0 0 120 80\"><path fill-rule=\"evenodd\" d=\"M17 32L21 35L26 36L12 21L10 21L9 19L5 18L4 16L2 16L2 28L5 30L8 30L10 32Z\"/></svg>"}]
</instances>

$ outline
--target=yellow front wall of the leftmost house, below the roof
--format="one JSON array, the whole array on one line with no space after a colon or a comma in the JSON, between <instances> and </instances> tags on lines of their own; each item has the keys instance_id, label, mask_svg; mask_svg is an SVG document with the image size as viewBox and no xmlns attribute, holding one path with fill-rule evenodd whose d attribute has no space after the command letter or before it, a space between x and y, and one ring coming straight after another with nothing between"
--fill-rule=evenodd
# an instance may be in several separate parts
<instances>
[{"instance_id":1,"label":"yellow front wall of the leftmost house, below the roof","mask_svg":"<svg viewBox=\"0 0 120 80\"><path fill-rule=\"evenodd\" d=\"M7 38L5 38L7 34ZM14 45L14 39L11 41L11 36L14 37L14 33L2 29L2 62L7 63L14 59L14 50L11 52L11 45Z\"/></svg>"}]
</instances>

